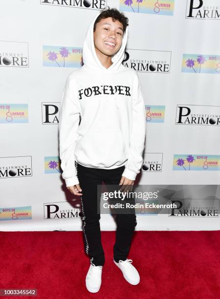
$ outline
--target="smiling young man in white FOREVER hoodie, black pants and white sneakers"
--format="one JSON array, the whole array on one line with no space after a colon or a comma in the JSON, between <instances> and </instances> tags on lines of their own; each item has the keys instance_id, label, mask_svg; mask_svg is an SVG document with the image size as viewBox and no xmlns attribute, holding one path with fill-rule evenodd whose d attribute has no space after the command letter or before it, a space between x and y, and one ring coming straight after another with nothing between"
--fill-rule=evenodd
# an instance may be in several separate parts
<instances>
[{"instance_id":1,"label":"smiling young man in white FOREVER hoodie, black pants and white sneakers","mask_svg":"<svg viewBox=\"0 0 220 299\"><path fill-rule=\"evenodd\" d=\"M143 163L145 105L135 70L122 64L128 18L117 9L99 12L83 44L83 66L66 80L60 109L60 159L67 189L81 197L86 286L98 292L105 262L97 213L97 185L132 187ZM124 187L124 186L122 186ZM131 284L139 274L128 259L134 214L116 215L113 262Z\"/></svg>"}]
</instances>

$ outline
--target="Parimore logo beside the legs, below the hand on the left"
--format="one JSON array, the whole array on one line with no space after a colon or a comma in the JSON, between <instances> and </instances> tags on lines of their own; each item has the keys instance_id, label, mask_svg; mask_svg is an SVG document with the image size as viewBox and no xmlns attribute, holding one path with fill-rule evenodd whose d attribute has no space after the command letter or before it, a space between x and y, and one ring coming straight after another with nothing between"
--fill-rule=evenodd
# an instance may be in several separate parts
<instances>
[{"instance_id":1,"label":"Parimore logo beside the legs, below the hand on the left","mask_svg":"<svg viewBox=\"0 0 220 299\"><path fill-rule=\"evenodd\" d=\"M72 219L81 217L80 201L44 203L44 219Z\"/></svg>"}]
</instances>

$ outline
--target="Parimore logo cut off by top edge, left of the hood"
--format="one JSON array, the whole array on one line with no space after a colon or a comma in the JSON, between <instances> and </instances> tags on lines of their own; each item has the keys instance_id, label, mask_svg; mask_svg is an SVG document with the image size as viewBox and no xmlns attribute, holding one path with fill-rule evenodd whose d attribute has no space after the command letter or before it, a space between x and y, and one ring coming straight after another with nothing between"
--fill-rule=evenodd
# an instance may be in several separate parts
<instances>
[{"instance_id":1,"label":"Parimore logo cut off by top edge, left of the hood","mask_svg":"<svg viewBox=\"0 0 220 299\"><path fill-rule=\"evenodd\" d=\"M106 8L107 0L41 0L41 4L99 10Z\"/></svg>"}]
</instances>

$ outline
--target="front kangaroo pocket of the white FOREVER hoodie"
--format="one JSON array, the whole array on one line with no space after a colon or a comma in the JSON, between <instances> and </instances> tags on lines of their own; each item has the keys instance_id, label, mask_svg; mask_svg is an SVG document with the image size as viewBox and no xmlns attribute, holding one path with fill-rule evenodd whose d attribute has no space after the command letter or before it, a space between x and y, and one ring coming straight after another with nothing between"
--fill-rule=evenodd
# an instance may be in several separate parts
<instances>
[{"instance_id":1,"label":"front kangaroo pocket of the white FOREVER hoodie","mask_svg":"<svg viewBox=\"0 0 220 299\"><path fill-rule=\"evenodd\" d=\"M91 167L121 165L127 159L120 130L89 131L76 143L74 154L79 163Z\"/></svg>"}]
</instances>

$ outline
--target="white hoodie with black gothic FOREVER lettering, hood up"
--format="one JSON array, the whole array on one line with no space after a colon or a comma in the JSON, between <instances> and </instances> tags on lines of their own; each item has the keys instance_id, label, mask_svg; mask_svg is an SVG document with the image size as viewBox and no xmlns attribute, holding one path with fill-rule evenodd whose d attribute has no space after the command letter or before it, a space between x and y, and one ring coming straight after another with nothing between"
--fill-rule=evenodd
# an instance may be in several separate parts
<instances>
[{"instance_id":1,"label":"white hoodie with black gothic FOREVER lettering, hood up","mask_svg":"<svg viewBox=\"0 0 220 299\"><path fill-rule=\"evenodd\" d=\"M135 70L122 64L128 27L119 51L105 68L93 42L93 25L83 44L84 65L71 72L60 106L59 147L66 187L79 184L75 161L85 167L115 169L135 180L143 163L146 118L141 85Z\"/></svg>"}]
</instances>

